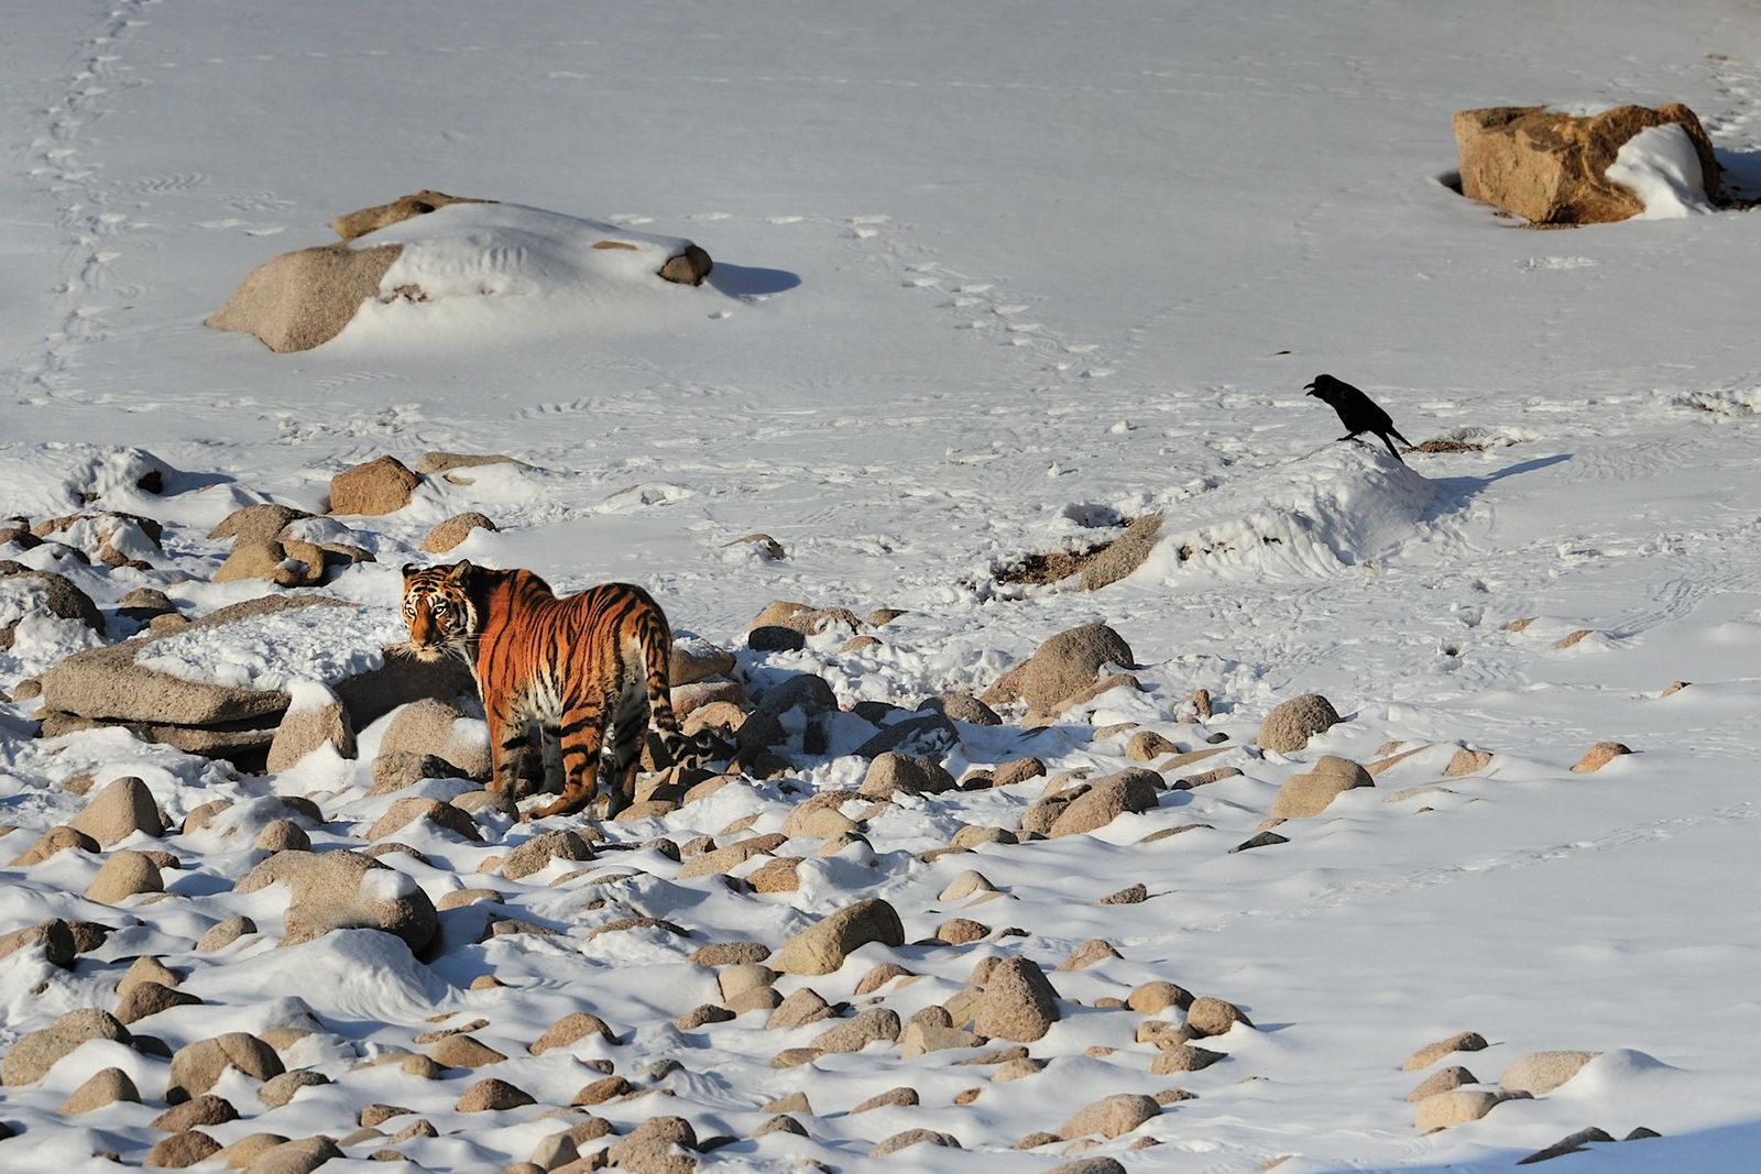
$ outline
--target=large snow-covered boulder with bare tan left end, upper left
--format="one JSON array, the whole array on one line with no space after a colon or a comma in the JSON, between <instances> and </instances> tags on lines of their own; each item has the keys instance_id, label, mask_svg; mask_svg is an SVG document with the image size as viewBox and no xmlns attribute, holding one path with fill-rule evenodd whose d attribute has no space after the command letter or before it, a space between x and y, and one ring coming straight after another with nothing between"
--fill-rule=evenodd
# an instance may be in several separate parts
<instances>
[{"instance_id":1,"label":"large snow-covered boulder with bare tan left end, upper left","mask_svg":"<svg viewBox=\"0 0 1761 1174\"><path fill-rule=\"evenodd\" d=\"M585 297L602 310L620 292L660 282L699 285L711 268L682 238L440 192L363 208L333 227L340 243L257 266L206 324L255 334L275 352L312 350L366 305L430 310L511 296Z\"/></svg>"}]
</instances>

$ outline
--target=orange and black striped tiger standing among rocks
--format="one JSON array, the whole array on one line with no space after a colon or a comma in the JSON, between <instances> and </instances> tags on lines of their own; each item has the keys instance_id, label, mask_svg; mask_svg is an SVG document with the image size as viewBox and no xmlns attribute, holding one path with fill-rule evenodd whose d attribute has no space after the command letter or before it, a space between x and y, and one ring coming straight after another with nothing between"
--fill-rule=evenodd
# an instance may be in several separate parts
<instances>
[{"instance_id":1,"label":"orange and black striped tiger standing among rocks","mask_svg":"<svg viewBox=\"0 0 1761 1174\"><path fill-rule=\"evenodd\" d=\"M564 785L560 799L528 818L586 806L606 755L606 815L622 811L636 796L650 722L674 762L706 753L673 716L673 632L639 586L604 583L556 598L530 570L407 565L403 620L419 658L451 653L470 664L490 725L490 790L507 811L532 753L530 727L544 732L546 774L560 755Z\"/></svg>"}]
</instances>

